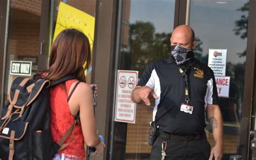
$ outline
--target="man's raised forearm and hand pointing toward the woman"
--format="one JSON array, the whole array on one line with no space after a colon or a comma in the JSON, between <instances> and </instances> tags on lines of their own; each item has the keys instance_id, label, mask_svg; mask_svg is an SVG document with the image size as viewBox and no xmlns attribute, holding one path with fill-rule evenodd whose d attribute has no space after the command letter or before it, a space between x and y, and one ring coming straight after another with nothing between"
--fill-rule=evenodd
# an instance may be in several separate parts
<instances>
[{"instance_id":1,"label":"man's raised forearm and hand pointing toward the woman","mask_svg":"<svg viewBox=\"0 0 256 160\"><path fill-rule=\"evenodd\" d=\"M150 95L152 95L154 99L158 98L156 93L154 93L149 86L136 86L136 88L132 90L131 100L134 103L142 103L144 101L147 106L150 106Z\"/></svg>"}]
</instances>

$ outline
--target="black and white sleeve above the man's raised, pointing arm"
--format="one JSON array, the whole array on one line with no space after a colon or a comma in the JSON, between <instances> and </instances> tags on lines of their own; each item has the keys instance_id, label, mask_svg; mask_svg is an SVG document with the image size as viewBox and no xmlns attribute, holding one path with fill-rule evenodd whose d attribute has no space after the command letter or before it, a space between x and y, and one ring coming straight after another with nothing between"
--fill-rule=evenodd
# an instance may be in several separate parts
<instances>
[{"instance_id":1,"label":"black and white sleeve above the man's raised, pointing arm","mask_svg":"<svg viewBox=\"0 0 256 160\"><path fill-rule=\"evenodd\" d=\"M149 66L144 70L142 77L138 82L138 86L149 86L151 89L154 89L154 77L152 76L152 72L154 70L154 64L150 63Z\"/></svg>"}]
</instances>

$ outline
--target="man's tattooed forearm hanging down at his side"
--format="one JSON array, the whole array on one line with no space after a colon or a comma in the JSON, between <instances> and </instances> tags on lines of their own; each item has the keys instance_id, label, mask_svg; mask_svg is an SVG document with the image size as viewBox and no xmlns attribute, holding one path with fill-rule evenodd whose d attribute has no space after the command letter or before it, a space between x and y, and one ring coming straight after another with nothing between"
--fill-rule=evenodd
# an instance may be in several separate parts
<instances>
[{"instance_id":1,"label":"man's tattooed forearm hanging down at his side","mask_svg":"<svg viewBox=\"0 0 256 160\"><path fill-rule=\"evenodd\" d=\"M213 156L215 159L221 159L223 156L223 121L219 105L208 104L207 115L215 141L215 146L212 148L209 159L212 159Z\"/></svg>"}]
</instances>

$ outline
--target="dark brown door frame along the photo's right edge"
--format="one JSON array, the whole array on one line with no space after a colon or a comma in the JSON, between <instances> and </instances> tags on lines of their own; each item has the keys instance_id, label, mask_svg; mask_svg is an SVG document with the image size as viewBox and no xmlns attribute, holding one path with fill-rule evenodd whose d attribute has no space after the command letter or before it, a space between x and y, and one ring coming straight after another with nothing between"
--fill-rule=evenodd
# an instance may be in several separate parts
<instances>
[{"instance_id":1,"label":"dark brown door frame along the photo's right edge","mask_svg":"<svg viewBox=\"0 0 256 160\"><path fill-rule=\"evenodd\" d=\"M256 50L256 2L250 0L249 5L249 19L248 19L248 33L247 33L247 53L246 53L246 66L245 66L245 89L244 89L244 104L242 108L242 120L241 121L241 134L240 135L240 149L238 154L245 159L250 159L250 131L254 130L254 110L255 110L255 50Z\"/></svg>"}]
</instances>

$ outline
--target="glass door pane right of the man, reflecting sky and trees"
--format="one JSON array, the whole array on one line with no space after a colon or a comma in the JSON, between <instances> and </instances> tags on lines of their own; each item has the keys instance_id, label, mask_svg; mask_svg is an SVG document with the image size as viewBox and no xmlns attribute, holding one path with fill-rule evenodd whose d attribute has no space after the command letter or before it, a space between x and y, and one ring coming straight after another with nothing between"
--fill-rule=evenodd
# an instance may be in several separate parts
<instances>
[{"instance_id":1,"label":"glass door pane right of the man, reflecting sky and trees","mask_svg":"<svg viewBox=\"0 0 256 160\"><path fill-rule=\"evenodd\" d=\"M208 64L212 51L227 50L225 77L230 77L229 94L219 92L219 106L224 121L224 158L230 159L239 149L244 106L245 65L247 53L248 0L191 0L189 24L198 41L197 59ZM215 75L218 79L218 73ZM218 84L218 83L217 83ZM221 87L221 86L220 86ZM214 139L206 128L211 146Z\"/></svg>"}]
</instances>

